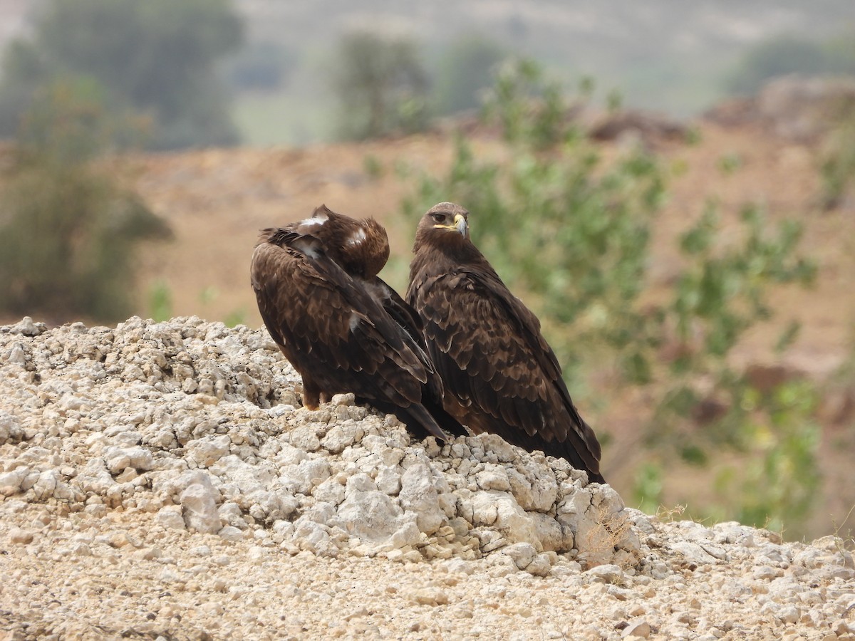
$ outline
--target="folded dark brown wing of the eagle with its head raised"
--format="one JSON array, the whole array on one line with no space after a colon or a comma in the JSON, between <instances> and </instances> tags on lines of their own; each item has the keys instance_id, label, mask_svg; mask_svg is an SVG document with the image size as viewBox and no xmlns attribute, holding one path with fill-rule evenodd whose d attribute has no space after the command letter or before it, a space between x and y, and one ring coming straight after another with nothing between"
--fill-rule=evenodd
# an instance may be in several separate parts
<instances>
[{"instance_id":1,"label":"folded dark brown wing of the eagle with its head raised","mask_svg":"<svg viewBox=\"0 0 855 641\"><path fill-rule=\"evenodd\" d=\"M563 456L598 477L597 438L570 400L540 322L498 276L465 268L428 276L409 297L446 394L485 415L470 428Z\"/></svg>"}]
</instances>

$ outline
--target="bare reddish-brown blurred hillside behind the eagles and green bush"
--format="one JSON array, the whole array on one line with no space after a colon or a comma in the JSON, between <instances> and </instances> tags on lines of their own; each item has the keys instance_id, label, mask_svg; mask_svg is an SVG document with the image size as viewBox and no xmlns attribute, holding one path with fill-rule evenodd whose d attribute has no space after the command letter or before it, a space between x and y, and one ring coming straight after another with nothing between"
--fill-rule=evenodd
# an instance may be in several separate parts
<instances>
[{"instance_id":1,"label":"bare reddish-brown blurred hillside behind the eagles and green bush","mask_svg":"<svg viewBox=\"0 0 855 641\"><path fill-rule=\"evenodd\" d=\"M828 373L843 357L846 319L855 317L855 296L846 295L855 271L851 210L818 209L816 145L778 137L757 123L722 126L699 121L697 126L699 144L658 143L667 162L680 169L672 175L669 203L657 223L652 286L669 285L676 260L670 253L673 239L700 215L707 198L717 199L730 216L742 204L753 202L764 204L773 221L784 217L803 221L803 248L819 259L820 277L815 290L798 292L799 304L782 300L780 310L781 315L793 312L805 326L800 341L804 349L793 364L811 373ZM485 157L497 147L486 134L473 142ZM604 144L606 153L609 146ZM164 281L174 292L176 315L225 318L238 311L248 325L257 326L260 317L247 279L257 231L298 220L321 203L354 217L374 216L389 233L390 265L408 264L417 219L406 221L400 215L400 199L412 188L398 177L396 168L403 164L440 174L452 151L451 136L434 133L305 149L193 151L128 162L134 185L175 235L174 241L152 244L145 251L140 313L151 286ZM728 157L738 159L737 170L722 170L722 160ZM369 173L367 159L379 163L379 177ZM478 224L478 212L472 212L472 221ZM387 268L383 275L398 288L406 285L404 270L389 273ZM216 295L200 306L200 295L208 288ZM758 344L746 359L764 356L768 354Z\"/></svg>"}]
</instances>

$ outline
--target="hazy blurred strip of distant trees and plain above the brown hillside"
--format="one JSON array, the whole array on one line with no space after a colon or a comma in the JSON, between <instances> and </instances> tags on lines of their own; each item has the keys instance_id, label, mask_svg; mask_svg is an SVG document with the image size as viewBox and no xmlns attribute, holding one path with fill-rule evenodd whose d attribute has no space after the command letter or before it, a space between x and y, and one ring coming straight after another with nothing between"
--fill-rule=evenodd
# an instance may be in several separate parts
<instances>
[{"instance_id":1,"label":"hazy blurred strip of distant trees and plain above the brown hillside","mask_svg":"<svg viewBox=\"0 0 855 641\"><path fill-rule=\"evenodd\" d=\"M595 77L628 105L675 115L779 74L851 74L848 3L785 5L651 0L574 13L440 0L413 21L403 5L369 0L334 19L323 3L45 0L32 30L3 51L0 137L56 79L85 79L110 114L138 119L145 146L174 149L421 130L476 108L508 56L538 60L565 84Z\"/></svg>"}]
</instances>

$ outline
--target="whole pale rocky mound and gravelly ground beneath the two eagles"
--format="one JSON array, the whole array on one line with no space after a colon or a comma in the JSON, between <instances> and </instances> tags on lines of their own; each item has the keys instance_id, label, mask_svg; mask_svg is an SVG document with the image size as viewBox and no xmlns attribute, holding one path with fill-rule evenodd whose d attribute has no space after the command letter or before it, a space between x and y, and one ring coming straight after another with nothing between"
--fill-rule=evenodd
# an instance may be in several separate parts
<instances>
[{"instance_id":1,"label":"whole pale rocky mound and gravelly ground beneath the two eagles","mask_svg":"<svg viewBox=\"0 0 855 641\"><path fill-rule=\"evenodd\" d=\"M855 632L839 540L660 523L563 460L492 435L416 441L350 395L309 412L299 385L267 333L243 326L0 327L0 630ZM321 589L328 573L341 585ZM98 605L120 586L115 607Z\"/></svg>"}]
</instances>

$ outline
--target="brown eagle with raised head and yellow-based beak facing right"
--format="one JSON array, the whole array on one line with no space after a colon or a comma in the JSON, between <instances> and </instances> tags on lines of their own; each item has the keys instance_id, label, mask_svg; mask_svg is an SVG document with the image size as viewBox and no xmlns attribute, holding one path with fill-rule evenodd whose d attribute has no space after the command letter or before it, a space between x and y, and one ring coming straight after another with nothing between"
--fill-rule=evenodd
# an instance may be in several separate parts
<instances>
[{"instance_id":1,"label":"brown eagle with raised head and yellow-based beak facing right","mask_svg":"<svg viewBox=\"0 0 855 641\"><path fill-rule=\"evenodd\" d=\"M469 212L434 205L413 253L406 300L422 319L449 414L472 432L561 456L604 483L597 437L570 399L540 321L469 239Z\"/></svg>"}]
</instances>

